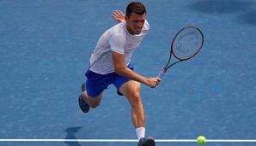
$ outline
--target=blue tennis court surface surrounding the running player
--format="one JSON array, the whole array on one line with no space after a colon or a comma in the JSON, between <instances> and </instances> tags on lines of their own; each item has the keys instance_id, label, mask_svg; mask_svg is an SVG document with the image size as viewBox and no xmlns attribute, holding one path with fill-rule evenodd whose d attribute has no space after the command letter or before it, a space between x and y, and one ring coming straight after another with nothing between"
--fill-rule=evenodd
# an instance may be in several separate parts
<instances>
[{"instance_id":1,"label":"blue tennis court surface surrounding the running player","mask_svg":"<svg viewBox=\"0 0 256 146\"><path fill-rule=\"evenodd\" d=\"M256 139L256 1L143 0L150 32L132 56L155 77L184 26L204 33L203 49L155 89L142 85L146 136ZM113 85L83 114L77 98L98 38L130 1L0 1L0 145L136 146L136 142L3 142L3 139L136 139L131 107ZM256 143L206 143L244 146ZM196 142L157 143L156 146Z\"/></svg>"}]
</instances>

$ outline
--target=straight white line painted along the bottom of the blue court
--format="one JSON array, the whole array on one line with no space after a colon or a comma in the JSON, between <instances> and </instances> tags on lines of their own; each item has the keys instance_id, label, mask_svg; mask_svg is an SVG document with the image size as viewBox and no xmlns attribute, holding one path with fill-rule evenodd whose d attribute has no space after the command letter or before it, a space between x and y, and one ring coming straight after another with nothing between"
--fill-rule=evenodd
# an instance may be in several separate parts
<instances>
[{"instance_id":1,"label":"straight white line painted along the bottom of the blue court","mask_svg":"<svg viewBox=\"0 0 256 146\"><path fill-rule=\"evenodd\" d=\"M0 142L83 142L83 143L135 143L137 139L0 139ZM158 143L191 143L196 139L155 139ZM206 143L256 143L256 139L206 139Z\"/></svg>"}]
</instances>

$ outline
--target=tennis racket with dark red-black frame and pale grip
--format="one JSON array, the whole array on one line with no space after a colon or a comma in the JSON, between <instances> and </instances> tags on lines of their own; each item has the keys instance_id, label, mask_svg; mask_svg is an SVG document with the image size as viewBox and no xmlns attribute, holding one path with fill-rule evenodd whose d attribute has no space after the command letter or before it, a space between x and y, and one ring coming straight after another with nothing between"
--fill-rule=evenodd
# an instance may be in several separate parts
<instances>
[{"instance_id":1,"label":"tennis racket with dark red-black frame and pale grip","mask_svg":"<svg viewBox=\"0 0 256 146\"><path fill-rule=\"evenodd\" d=\"M163 74L166 73L169 67L174 66L180 61L186 61L197 55L199 50L203 47L204 35L195 26L186 26L178 32L172 42L170 56L167 65L162 69L156 77L162 78ZM174 55L178 61L175 61L169 65L171 57Z\"/></svg>"}]
</instances>

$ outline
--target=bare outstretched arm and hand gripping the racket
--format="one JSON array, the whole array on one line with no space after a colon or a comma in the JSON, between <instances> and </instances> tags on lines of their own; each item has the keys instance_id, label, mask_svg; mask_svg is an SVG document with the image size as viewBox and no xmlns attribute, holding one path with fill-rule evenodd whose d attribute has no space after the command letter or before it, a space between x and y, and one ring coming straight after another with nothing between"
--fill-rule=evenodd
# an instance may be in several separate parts
<instances>
[{"instance_id":1,"label":"bare outstretched arm and hand gripping the racket","mask_svg":"<svg viewBox=\"0 0 256 146\"><path fill-rule=\"evenodd\" d=\"M130 68L125 66L124 55L113 51L112 56L115 73L118 73L119 75L125 78L136 80L137 82L143 83L144 85L148 85L151 88L155 88L155 86L158 85L159 82L161 81L161 79L159 78L146 78L140 74L133 72Z\"/></svg>"}]
</instances>

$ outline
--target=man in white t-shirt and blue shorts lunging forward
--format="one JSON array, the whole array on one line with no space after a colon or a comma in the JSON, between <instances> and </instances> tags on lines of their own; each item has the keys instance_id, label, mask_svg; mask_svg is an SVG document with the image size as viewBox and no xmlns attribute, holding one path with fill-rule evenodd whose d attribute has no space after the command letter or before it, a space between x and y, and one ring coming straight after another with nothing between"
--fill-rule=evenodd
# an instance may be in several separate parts
<instances>
[{"instance_id":1,"label":"man in white t-shirt and blue shorts lunging forward","mask_svg":"<svg viewBox=\"0 0 256 146\"><path fill-rule=\"evenodd\" d=\"M126 8L126 15L114 11L113 18L119 22L108 29L98 40L85 73L86 85L82 85L79 106L84 113L100 105L103 91L108 85L115 85L117 92L131 104L132 123L136 128L138 146L155 146L152 137L145 136L145 114L140 96L141 83L155 88L161 79L146 78L133 72L131 55L149 32L146 9L143 3L132 2Z\"/></svg>"}]
</instances>

